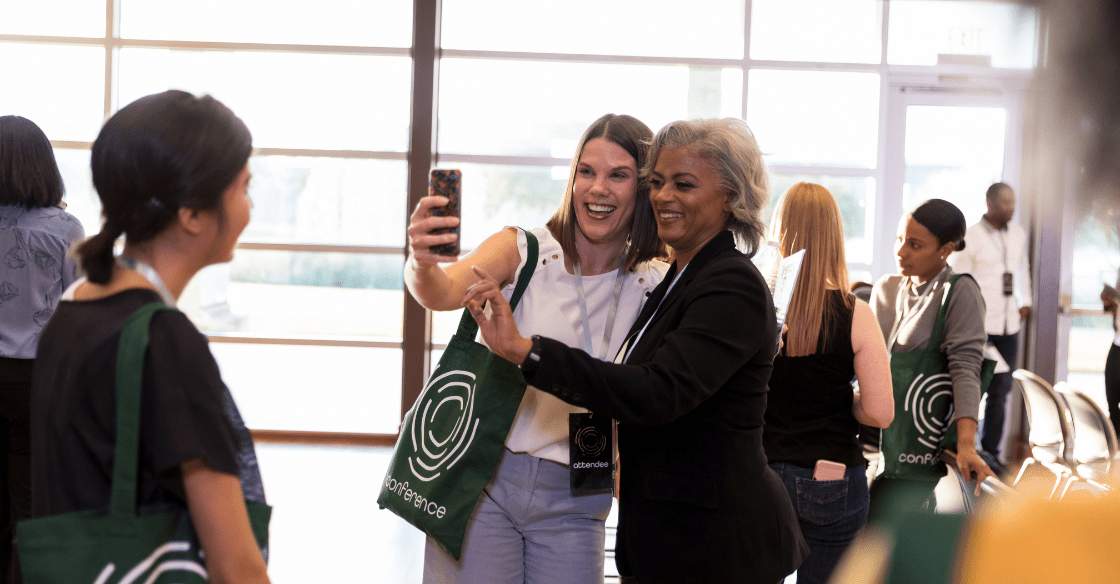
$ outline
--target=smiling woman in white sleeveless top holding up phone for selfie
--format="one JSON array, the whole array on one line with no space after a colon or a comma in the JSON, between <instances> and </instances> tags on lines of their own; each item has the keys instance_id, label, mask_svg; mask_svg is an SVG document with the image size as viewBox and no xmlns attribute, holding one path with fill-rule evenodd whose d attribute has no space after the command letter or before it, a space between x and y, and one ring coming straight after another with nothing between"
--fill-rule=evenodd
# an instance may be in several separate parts
<instances>
[{"instance_id":1,"label":"smiling woman in white sleeveless top holding up phone for selfie","mask_svg":"<svg viewBox=\"0 0 1120 584\"><path fill-rule=\"evenodd\" d=\"M616 114L584 132L560 208L544 229L532 231L539 259L514 315L519 326L599 359L618 352L664 272L664 263L652 261L664 248L648 187L638 179L652 135L641 121ZM479 280L472 267L479 266L508 298L526 261L525 235L504 229L463 259L432 253L431 245L458 238L430 233L458 225L457 217L433 214L447 203L429 196L412 214L404 271L409 291L429 309L461 309ZM440 266L446 262L451 263ZM467 526L461 558L456 562L429 539L426 583L603 582L610 493L573 495L569 488L569 415L586 411L526 389L494 479Z\"/></svg>"}]
</instances>

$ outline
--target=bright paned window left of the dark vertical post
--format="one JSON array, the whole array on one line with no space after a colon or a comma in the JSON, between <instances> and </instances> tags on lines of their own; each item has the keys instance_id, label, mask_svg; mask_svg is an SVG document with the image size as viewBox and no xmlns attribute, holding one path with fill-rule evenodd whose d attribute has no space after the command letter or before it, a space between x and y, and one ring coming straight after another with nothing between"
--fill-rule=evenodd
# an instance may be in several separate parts
<instances>
[{"instance_id":1,"label":"bright paned window left of the dark vertical post","mask_svg":"<svg viewBox=\"0 0 1120 584\"><path fill-rule=\"evenodd\" d=\"M0 112L52 138L69 210L90 234L100 205L88 148L106 115L179 89L245 121L253 220L235 260L203 270L180 307L211 337L252 428L395 434L411 1L0 10Z\"/></svg>"}]
</instances>

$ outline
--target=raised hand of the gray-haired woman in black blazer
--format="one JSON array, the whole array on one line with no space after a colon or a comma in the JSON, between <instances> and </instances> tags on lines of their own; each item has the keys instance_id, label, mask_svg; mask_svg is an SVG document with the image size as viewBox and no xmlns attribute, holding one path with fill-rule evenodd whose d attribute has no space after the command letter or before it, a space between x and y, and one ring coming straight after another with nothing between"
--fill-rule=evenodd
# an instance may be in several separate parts
<instances>
[{"instance_id":1,"label":"raised hand of the gray-haired woman in black blazer","mask_svg":"<svg viewBox=\"0 0 1120 584\"><path fill-rule=\"evenodd\" d=\"M494 354L520 365L533 349L533 342L521 336L516 323L513 322L513 309L510 302L502 296L502 286L478 266L472 266L479 280L467 288L463 297L463 306L470 310L470 316L478 323L483 340ZM489 310L486 310L487 303ZM489 314L487 314L487 312Z\"/></svg>"}]
</instances>

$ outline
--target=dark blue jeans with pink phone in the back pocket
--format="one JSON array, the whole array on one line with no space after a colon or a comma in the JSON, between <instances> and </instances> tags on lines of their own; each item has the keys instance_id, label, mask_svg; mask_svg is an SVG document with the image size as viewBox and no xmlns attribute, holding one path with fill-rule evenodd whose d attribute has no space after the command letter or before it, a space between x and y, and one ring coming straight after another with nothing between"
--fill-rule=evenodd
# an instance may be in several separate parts
<instances>
[{"instance_id":1,"label":"dark blue jeans with pink phone in the back pocket","mask_svg":"<svg viewBox=\"0 0 1120 584\"><path fill-rule=\"evenodd\" d=\"M809 544L797 584L823 584L867 523L867 465L849 466L840 481L815 481L812 469L786 463L773 463L771 469L782 478Z\"/></svg>"}]
</instances>

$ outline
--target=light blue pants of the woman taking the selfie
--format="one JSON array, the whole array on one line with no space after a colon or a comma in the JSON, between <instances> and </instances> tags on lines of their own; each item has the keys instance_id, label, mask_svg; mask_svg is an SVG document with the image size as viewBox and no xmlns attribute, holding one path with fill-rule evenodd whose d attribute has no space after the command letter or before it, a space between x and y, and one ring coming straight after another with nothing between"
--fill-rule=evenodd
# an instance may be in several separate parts
<instances>
[{"instance_id":1,"label":"light blue pants of the woman taking the selfie","mask_svg":"<svg viewBox=\"0 0 1120 584\"><path fill-rule=\"evenodd\" d=\"M568 467L504 451L467 523L463 556L431 538L424 584L601 584L612 495L572 497Z\"/></svg>"}]
</instances>

